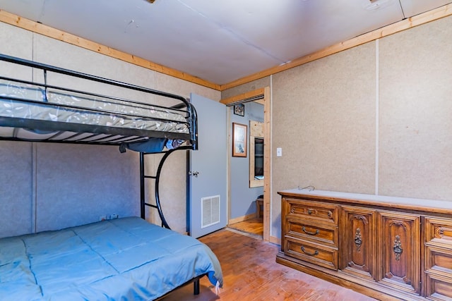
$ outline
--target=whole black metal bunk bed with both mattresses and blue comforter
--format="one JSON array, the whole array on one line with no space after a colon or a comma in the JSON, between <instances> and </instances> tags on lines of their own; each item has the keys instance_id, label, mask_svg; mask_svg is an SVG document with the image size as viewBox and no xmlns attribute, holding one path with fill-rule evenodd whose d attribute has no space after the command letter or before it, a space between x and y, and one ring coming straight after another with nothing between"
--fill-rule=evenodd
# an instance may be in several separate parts
<instances>
[{"instance_id":1,"label":"whole black metal bunk bed with both mattresses and blue comforter","mask_svg":"<svg viewBox=\"0 0 452 301\"><path fill-rule=\"evenodd\" d=\"M172 231L160 206L165 160L198 147L189 101L4 54L0 67L8 70L0 73L0 140L116 145L139 152L141 173L140 217L1 238L1 300L155 300L189 283L198 294L203 276L222 286L215 254ZM144 168L149 154L162 154L152 176ZM148 179L155 180L153 204L145 199ZM146 207L162 226L145 221Z\"/></svg>"}]
</instances>

